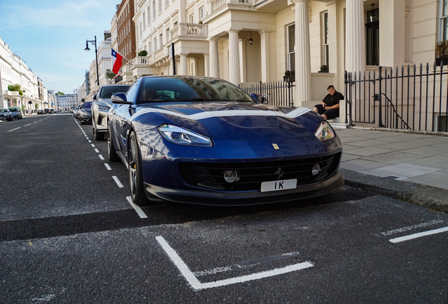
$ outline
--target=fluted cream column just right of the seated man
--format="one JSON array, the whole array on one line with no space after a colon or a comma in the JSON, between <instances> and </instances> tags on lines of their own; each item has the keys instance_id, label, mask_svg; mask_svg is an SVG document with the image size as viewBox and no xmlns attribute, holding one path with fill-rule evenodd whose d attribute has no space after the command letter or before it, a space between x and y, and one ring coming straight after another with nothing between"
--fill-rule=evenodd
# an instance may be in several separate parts
<instances>
[{"instance_id":1,"label":"fluted cream column just right of the seated man","mask_svg":"<svg viewBox=\"0 0 448 304\"><path fill-rule=\"evenodd\" d=\"M345 70L356 72L366 70L366 39L364 35L363 0L347 0L345 9Z\"/></svg>"}]
</instances>

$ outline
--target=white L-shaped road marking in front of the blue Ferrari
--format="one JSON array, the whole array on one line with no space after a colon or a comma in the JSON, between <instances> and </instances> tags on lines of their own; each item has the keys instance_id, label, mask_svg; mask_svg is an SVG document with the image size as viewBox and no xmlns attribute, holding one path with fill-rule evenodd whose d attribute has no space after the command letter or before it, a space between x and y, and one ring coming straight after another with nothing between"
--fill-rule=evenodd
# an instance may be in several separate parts
<instances>
[{"instance_id":1,"label":"white L-shaped road marking in front of the blue Ferrari","mask_svg":"<svg viewBox=\"0 0 448 304\"><path fill-rule=\"evenodd\" d=\"M253 281L256 279L263 279L266 277L273 277L279 274L285 274L288 272L293 272L297 270L302 270L305 268L313 267L314 265L311 262L301 262L298 264L290 265L282 268L275 268L273 270L268 270L265 272L257 272L254 274L245 275L242 277L234 277L231 279L223 279L220 281L213 281L209 283L201 283L196 276L194 276L193 272L189 270L188 266L185 262L179 257L178 253L171 248L170 245L163 239L162 236L156 236L156 240L162 246L163 250L168 254L168 257L173 261L174 265L178 267L180 273L187 279L188 283L196 290L199 289L209 289L218 286L225 286L230 284L243 283L245 281Z\"/></svg>"}]
</instances>

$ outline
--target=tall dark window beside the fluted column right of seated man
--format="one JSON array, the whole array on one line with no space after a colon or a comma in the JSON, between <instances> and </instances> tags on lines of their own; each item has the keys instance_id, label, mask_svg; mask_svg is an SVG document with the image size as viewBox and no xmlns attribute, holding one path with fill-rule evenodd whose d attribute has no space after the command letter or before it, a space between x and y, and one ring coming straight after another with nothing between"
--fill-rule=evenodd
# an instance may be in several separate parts
<instances>
[{"instance_id":1,"label":"tall dark window beside the fluted column right of seated man","mask_svg":"<svg viewBox=\"0 0 448 304\"><path fill-rule=\"evenodd\" d=\"M366 23L366 64L380 63L380 9L367 12Z\"/></svg>"}]
</instances>

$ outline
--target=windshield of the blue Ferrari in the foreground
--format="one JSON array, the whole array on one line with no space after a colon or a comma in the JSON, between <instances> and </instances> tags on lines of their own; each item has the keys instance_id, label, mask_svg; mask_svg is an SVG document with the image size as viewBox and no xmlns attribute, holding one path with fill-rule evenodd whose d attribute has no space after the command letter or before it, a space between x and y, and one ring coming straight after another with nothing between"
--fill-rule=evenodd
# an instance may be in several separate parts
<instances>
[{"instance_id":1,"label":"windshield of the blue Ferrari in the foreground","mask_svg":"<svg viewBox=\"0 0 448 304\"><path fill-rule=\"evenodd\" d=\"M161 101L242 101L254 103L230 82L206 77L147 77L137 104Z\"/></svg>"}]
</instances>

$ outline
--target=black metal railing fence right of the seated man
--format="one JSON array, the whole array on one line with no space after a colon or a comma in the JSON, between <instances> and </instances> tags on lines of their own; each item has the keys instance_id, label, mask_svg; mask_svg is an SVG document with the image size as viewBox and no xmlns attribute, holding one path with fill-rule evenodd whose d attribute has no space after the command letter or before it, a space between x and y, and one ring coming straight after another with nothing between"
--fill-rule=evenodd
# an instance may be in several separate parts
<instances>
[{"instance_id":1,"label":"black metal railing fence right of the seated man","mask_svg":"<svg viewBox=\"0 0 448 304\"><path fill-rule=\"evenodd\" d=\"M346 118L350 124L448 132L448 69L443 63L345 72ZM361 77L362 76L362 77Z\"/></svg>"}]
</instances>

